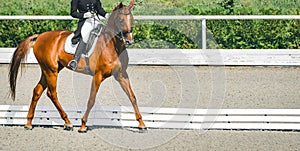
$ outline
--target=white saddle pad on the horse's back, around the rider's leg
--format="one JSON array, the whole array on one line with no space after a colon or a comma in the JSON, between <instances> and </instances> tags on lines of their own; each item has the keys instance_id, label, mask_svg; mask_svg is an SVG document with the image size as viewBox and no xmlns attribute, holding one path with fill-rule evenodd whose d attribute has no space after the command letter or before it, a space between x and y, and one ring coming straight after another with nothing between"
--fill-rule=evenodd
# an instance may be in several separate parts
<instances>
[{"instance_id":1,"label":"white saddle pad on the horse's back, around the rider's leg","mask_svg":"<svg viewBox=\"0 0 300 151\"><path fill-rule=\"evenodd\" d=\"M78 44L79 44L79 43L77 43L76 45L72 44L71 39L73 38L73 36L74 36L74 33L70 34L67 37L66 41L65 41L65 47L64 47L65 48L65 52L69 53L69 54L75 54L76 48L78 47ZM91 56L91 54L93 53L94 48L96 46L96 41L97 40L98 40L98 37L95 38L95 40L93 42L93 45L92 45L92 48L88 51L88 54L87 55L82 54L82 57L90 57Z\"/></svg>"}]
</instances>

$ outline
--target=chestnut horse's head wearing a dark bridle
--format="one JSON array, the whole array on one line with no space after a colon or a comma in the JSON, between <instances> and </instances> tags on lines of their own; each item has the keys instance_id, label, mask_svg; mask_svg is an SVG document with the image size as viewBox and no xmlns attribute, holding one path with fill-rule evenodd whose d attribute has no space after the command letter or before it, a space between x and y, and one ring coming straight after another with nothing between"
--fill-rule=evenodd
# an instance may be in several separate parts
<instances>
[{"instance_id":1,"label":"chestnut horse's head wearing a dark bridle","mask_svg":"<svg viewBox=\"0 0 300 151\"><path fill-rule=\"evenodd\" d=\"M108 21L109 24L111 23L111 27L114 26L115 32L127 45L130 45L134 42L132 35L133 16L131 13L131 8L133 5L134 0L130 2L129 6L120 3L113 9L111 17Z\"/></svg>"}]
</instances>

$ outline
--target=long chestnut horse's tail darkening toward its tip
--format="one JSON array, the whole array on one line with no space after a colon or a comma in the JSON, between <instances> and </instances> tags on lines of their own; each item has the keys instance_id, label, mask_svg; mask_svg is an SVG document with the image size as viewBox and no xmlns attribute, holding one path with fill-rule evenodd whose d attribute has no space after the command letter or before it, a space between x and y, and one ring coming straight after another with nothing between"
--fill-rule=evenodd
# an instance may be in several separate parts
<instances>
[{"instance_id":1,"label":"long chestnut horse's tail darkening toward its tip","mask_svg":"<svg viewBox=\"0 0 300 151\"><path fill-rule=\"evenodd\" d=\"M10 96L13 100L15 100L16 97L16 84L21 61L23 61L24 58L27 56L29 49L33 47L38 36L38 34L35 34L30 37L27 37L24 41L22 41L19 44L12 56L8 76L10 84Z\"/></svg>"}]
</instances>

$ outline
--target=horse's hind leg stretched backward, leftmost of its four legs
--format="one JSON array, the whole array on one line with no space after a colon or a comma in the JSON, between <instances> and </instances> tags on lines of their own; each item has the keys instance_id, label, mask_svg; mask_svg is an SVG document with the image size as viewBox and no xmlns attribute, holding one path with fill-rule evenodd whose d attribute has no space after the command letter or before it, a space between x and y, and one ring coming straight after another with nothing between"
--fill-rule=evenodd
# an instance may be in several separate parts
<instances>
[{"instance_id":1,"label":"horse's hind leg stretched backward, leftmost of its four legs","mask_svg":"<svg viewBox=\"0 0 300 151\"><path fill-rule=\"evenodd\" d=\"M25 129L31 130L32 129L32 119L34 117L35 107L37 105L38 100L40 99L42 93L47 88L47 82L45 75L42 73L41 79L39 83L33 89L33 95L29 107L29 111L27 114L27 124L25 125Z\"/></svg>"}]
</instances>

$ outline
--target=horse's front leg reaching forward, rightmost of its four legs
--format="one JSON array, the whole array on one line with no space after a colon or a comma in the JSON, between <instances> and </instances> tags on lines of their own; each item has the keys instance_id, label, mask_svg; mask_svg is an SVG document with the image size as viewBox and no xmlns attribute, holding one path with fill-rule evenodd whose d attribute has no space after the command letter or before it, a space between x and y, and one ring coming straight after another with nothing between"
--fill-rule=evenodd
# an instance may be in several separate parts
<instances>
[{"instance_id":1,"label":"horse's front leg reaching forward, rightmost of its four legs","mask_svg":"<svg viewBox=\"0 0 300 151\"><path fill-rule=\"evenodd\" d=\"M125 93L127 94L128 98L130 99L130 101L132 103L132 106L133 106L133 109L135 112L135 116L136 116L136 120L139 122L138 128L146 129L144 121L142 120L142 115L141 115L138 105L137 105L136 97L131 89L130 80L129 80L127 72L124 71L124 72L120 72L120 73L116 74L115 79L120 83L122 89L125 91Z\"/></svg>"}]
</instances>

